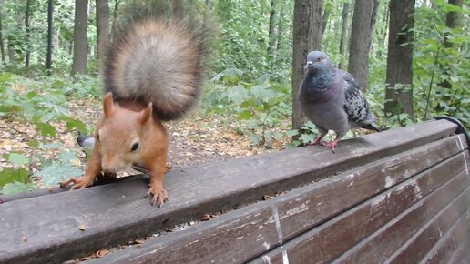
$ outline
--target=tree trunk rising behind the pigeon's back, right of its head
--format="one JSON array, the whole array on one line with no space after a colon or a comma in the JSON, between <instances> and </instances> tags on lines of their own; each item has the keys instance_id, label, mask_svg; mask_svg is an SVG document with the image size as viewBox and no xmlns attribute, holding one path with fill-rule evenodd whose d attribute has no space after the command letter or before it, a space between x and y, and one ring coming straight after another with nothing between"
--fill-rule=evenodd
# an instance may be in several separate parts
<instances>
[{"instance_id":1,"label":"tree trunk rising behind the pigeon's back, right of its head","mask_svg":"<svg viewBox=\"0 0 470 264\"><path fill-rule=\"evenodd\" d=\"M373 0L356 0L349 43L348 71L363 91L367 90L369 76L369 42Z\"/></svg>"}]
</instances>

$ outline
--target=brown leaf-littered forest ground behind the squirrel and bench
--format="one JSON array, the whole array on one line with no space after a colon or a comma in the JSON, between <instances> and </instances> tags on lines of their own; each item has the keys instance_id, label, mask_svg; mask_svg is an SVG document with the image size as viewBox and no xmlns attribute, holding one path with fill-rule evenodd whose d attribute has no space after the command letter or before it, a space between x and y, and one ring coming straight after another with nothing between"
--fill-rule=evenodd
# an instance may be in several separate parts
<instances>
[{"instance_id":1,"label":"brown leaf-littered forest ground behind the squirrel and bench","mask_svg":"<svg viewBox=\"0 0 470 264\"><path fill-rule=\"evenodd\" d=\"M70 117L83 121L87 127L95 127L101 113L101 103L95 99L74 100L69 102ZM287 130L290 120L281 122L283 127L278 130ZM47 137L47 143L59 143L76 153L74 166L84 169L86 155L77 146L77 131L66 131L64 124L51 124L56 127L56 137ZM180 120L165 123L169 132L169 161L172 168L181 168L207 162L221 161L237 157L249 157L261 153L278 151L289 143L285 137L281 141L274 140L270 147L250 145L249 134L243 132L243 121L233 117L220 115L205 115L200 109L191 111L189 116ZM29 147L27 142L36 139L36 129L31 124L25 124L16 119L0 119L0 167L9 167L3 157L10 152L24 153L26 156L39 154L46 158L57 157L64 147L41 148ZM34 150L33 150L34 149ZM35 153L32 153L35 151ZM38 160L33 159L29 165L35 172L40 167ZM128 169L119 176L136 174L138 172ZM38 188L42 187L40 178L35 180Z\"/></svg>"}]
</instances>

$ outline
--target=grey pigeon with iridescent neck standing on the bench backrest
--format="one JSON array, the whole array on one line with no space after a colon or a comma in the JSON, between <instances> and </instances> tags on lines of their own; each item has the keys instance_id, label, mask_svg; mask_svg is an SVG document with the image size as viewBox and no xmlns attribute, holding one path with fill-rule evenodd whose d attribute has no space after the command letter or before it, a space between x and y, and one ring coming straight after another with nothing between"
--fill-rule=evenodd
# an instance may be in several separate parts
<instances>
[{"instance_id":1,"label":"grey pigeon with iridescent neck standing on the bench backrest","mask_svg":"<svg viewBox=\"0 0 470 264\"><path fill-rule=\"evenodd\" d=\"M338 141L352 127L381 131L373 125L375 117L354 77L335 69L326 54L322 51L310 52L304 73L299 102L305 116L320 131L320 136L308 145L320 143L334 152ZM321 142L328 130L334 130L336 138L332 142Z\"/></svg>"}]
</instances>

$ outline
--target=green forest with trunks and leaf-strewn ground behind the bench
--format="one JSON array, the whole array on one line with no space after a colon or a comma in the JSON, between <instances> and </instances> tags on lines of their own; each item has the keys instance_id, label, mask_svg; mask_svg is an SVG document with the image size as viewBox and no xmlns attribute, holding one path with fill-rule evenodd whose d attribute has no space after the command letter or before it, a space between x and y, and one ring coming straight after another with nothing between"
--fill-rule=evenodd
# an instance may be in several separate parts
<instances>
[{"instance_id":1,"label":"green forest with trunks and leaf-strewn ground behind the bench","mask_svg":"<svg viewBox=\"0 0 470 264\"><path fill-rule=\"evenodd\" d=\"M93 132L101 58L129 17L142 10L184 17L211 33L204 94L190 118L198 124L169 125L189 145L219 137L217 129L228 131L220 134L223 142L240 137L246 142L235 148L250 149L242 155L227 151L227 157L311 141L316 127L305 122L292 95L313 49L356 77L380 127L447 115L468 129L470 23L464 2L0 0L0 191L51 187L81 174L85 158L70 138ZM215 123L219 127L207 128ZM188 127L199 130L181 132ZM363 131L348 137L353 133ZM72 143L65 144L64 135Z\"/></svg>"}]
</instances>

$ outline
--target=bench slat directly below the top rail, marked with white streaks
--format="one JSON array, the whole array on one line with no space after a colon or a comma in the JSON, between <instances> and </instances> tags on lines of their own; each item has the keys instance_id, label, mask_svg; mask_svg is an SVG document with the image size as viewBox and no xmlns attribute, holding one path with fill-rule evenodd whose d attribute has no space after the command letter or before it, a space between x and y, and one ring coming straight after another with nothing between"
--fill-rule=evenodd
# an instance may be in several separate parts
<instances>
[{"instance_id":1,"label":"bench slat directly below the top rail, marked with white streaks","mask_svg":"<svg viewBox=\"0 0 470 264\"><path fill-rule=\"evenodd\" d=\"M280 198L272 198L222 215L209 223L170 234L164 239L150 240L138 249L119 250L93 262L184 263L188 259L192 263L247 261L323 220L332 218L344 208L352 207L363 199L412 177L429 167L428 163L432 160L436 162L455 153L459 149L455 140L455 137L449 137L415 148L367 167L293 190ZM425 175L432 180L424 182L421 194L426 195L452 178L464 168L463 164L460 157L454 157L438 165L438 169L433 170L434 173ZM413 200L398 193L395 196L396 199L404 197L405 200ZM414 199L418 199L418 194Z\"/></svg>"}]
</instances>

